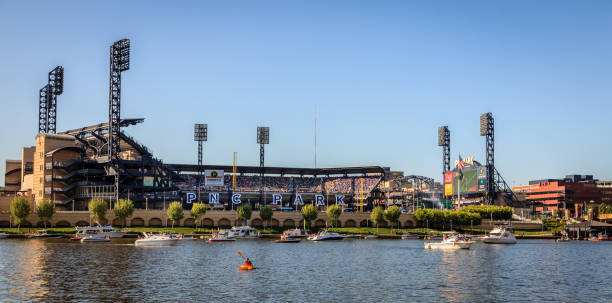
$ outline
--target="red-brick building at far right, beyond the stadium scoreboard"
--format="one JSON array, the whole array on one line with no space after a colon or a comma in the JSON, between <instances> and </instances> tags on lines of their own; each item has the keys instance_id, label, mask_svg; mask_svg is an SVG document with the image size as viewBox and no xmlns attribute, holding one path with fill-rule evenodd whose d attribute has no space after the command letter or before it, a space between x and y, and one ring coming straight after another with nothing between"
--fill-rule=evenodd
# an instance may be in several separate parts
<instances>
[{"instance_id":1,"label":"red-brick building at far right, beyond the stadium scoreboard","mask_svg":"<svg viewBox=\"0 0 612 303\"><path fill-rule=\"evenodd\" d=\"M611 181L594 180L591 175L568 175L563 179L529 181L529 185L515 186L536 212L562 211L566 216L585 215L589 204L612 204Z\"/></svg>"}]
</instances>

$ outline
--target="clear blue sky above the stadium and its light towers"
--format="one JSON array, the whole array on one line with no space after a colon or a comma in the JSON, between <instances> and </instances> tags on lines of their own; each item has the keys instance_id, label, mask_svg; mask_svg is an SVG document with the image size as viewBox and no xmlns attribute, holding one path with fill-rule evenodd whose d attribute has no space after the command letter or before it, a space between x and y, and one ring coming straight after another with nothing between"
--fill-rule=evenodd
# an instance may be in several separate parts
<instances>
[{"instance_id":1,"label":"clear blue sky above the stadium and its light towers","mask_svg":"<svg viewBox=\"0 0 612 303\"><path fill-rule=\"evenodd\" d=\"M611 1L1 1L0 184L34 145L38 91L65 68L58 130L108 121L109 46L129 38L126 132L167 163L380 165L441 180L451 154L484 162L495 117L511 185L612 179Z\"/></svg>"}]
</instances>

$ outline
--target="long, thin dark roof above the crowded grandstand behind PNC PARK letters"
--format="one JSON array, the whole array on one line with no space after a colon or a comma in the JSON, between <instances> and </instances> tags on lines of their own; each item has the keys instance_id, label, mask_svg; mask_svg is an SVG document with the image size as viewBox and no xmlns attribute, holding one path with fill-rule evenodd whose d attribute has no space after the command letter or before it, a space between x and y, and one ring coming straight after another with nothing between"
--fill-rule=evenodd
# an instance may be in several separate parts
<instances>
[{"instance_id":1,"label":"long, thin dark roof above the crowded grandstand behind PNC PARK letters","mask_svg":"<svg viewBox=\"0 0 612 303\"><path fill-rule=\"evenodd\" d=\"M178 172L197 172L196 164L168 164ZM223 170L232 172L231 165L202 165L202 170ZM259 166L236 166L238 174L259 174L262 168ZM297 167L263 167L263 173L267 175L299 175L299 176L331 176L331 175L366 175L385 174L385 169L380 166L354 166L354 167L330 167L330 168L297 168Z\"/></svg>"}]
</instances>

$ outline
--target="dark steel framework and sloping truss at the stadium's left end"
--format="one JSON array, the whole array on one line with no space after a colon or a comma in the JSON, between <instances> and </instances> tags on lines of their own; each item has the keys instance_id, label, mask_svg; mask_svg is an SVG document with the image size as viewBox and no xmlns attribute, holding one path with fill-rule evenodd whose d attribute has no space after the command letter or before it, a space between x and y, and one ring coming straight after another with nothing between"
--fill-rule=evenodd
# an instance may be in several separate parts
<instances>
[{"instance_id":1,"label":"dark steel framework and sloping truss at the stadium's left end","mask_svg":"<svg viewBox=\"0 0 612 303\"><path fill-rule=\"evenodd\" d=\"M121 127L137 125L144 119L123 119L119 122ZM51 186L50 194L57 194L56 204L67 205L73 201L80 201L80 207L91 198L116 200L117 198L130 198L137 207L145 205L145 197L150 197L155 203L161 200L165 193L176 191L173 182L182 178L169 169L161 160L155 158L147 147L137 142L125 132L120 132L117 142L122 169L119 171L120 191L115 190L115 175L108 174L107 167L111 163L109 149L108 123L87 126L68 130L60 134L71 135L80 143L74 151L80 156L68 161L53 163L53 170L61 170L61 177L53 174L52 182L61 182L59 186ZM52 155L50 155L52 156ZM64 199L57 199L64 197ZM155 207L155 204L150 204Z\"/></svg>"}]
</instances>

